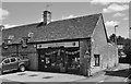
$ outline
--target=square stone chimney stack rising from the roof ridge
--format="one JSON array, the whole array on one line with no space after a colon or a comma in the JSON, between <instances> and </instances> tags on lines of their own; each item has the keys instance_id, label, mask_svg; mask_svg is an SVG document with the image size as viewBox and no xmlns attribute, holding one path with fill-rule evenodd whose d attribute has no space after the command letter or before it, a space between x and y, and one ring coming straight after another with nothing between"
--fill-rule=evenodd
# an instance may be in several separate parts
<instances>
[{"instance_id":1,"label":"square stone chimney stack rising from the roof ridge","mask_svg":"<svg viewBox=\"0 0 131 84\"><path fill-rule=\"evenodd\" d=\"M43 17L44 17L44 24L45 25L49 24L51 22L51 12L49 12L47 10L44 11Z\"/></svg>"}]
</instances>

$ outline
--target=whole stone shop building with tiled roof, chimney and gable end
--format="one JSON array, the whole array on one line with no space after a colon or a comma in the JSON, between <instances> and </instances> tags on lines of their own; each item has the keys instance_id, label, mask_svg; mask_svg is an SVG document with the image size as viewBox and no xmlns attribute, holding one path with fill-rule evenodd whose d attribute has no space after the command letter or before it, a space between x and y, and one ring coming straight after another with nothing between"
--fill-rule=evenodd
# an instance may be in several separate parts
<instances>
[{"instance_id":1,"label":"whole stone shop building with tiled roof, chimney and gable end","mask_svg":"<svg viewBox=\"0 0 131 84\"><path fill-rule=\"evenodd\" d=\"M103 14L44 22L2 31L2 56L29 59L29 70L92 75L118 64Z\"/></svg>"}]
</instances>

